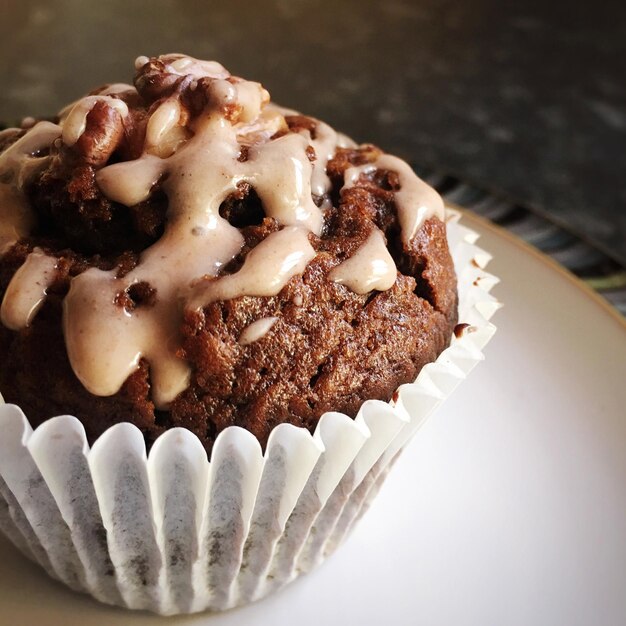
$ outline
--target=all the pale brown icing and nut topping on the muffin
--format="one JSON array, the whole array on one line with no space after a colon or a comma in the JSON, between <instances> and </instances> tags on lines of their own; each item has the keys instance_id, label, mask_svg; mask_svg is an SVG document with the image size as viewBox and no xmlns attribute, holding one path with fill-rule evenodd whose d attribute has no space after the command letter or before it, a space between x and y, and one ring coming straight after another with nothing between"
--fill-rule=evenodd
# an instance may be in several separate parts
<instances>
[{"instance_id":1,"label":"all the pale brown icing and nut topping on the muffin","mask_svg":"<svg viewBox=\"0 0 626 626\"><path fill-rule=\"evenodd\" d=\"M312 241L323 234L330 203L327 163L338 147L353 144L310 118L312 127L290 130L286 118L293 112L269 105L260 84L232 77L218 63L176 54L139 57L136 68L135 87L117 83L97 90L61 111L58 124L35 124L0 154L0 254L32 228L24 188L46 166L51 148L81 155L113 202L135 207L156 189L164 193L165 231L141 253L134 269L122 277L115 269L84 271L72 279L63 302L68 355L83 385L96 395L114 394L143 358L150 365L153 400L163 408L189 383L189 367L178 356L184 310L201 311L211 302L241 296L276 295L302 274L316 255ZM135 152L138 158L110 163L117 146L135 130L131 108L137 102L147 103L142 149ZM93 128L99 116L110 126L100 135ZM98 152L90 159L85 151L92 144ZM425 219L443 218L436 192L395 157L382 155L349 168L345 186L377 169L397 174L395 200L405 244ZM220 207L242 185L254 190L264 215L279 230L228 274L223 270L240 254L245 239L220 215ZM2 303L6 326L17 330L30 324L55 263L35 250L13 276ZM373 227L329 279L360 294L391 288L396 266L383 233ZM148 285L155 298L129 310L122 296L138 284ZM252 323L240 344L258 340L275 322L268 317Z\"/></svg>"}]
</instances>

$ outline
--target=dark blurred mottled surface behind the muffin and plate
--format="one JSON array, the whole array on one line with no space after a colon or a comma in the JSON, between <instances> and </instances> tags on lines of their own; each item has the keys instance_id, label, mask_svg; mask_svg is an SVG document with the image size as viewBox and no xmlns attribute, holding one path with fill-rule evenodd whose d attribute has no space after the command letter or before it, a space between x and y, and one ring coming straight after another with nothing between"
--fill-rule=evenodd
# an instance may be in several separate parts
<instances>
[{"instance_id":1,"label":"dark blurred mottled surface behind the muffin and plate","mask_svg":"<svg viewBox=\"0 0 626 626\"><path fill-rule=\"evenodd\" d=\"M626 263L618 0L0 3L0 119L55 111L139 54L263 82L360 141L548 213Z\"/></svg>"}]
</instances>

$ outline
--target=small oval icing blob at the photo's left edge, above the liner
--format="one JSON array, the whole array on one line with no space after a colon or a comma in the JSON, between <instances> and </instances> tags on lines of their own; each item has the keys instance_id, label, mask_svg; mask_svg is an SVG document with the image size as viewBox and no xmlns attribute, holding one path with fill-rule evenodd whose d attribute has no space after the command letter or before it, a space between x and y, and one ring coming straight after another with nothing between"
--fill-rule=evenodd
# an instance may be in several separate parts
<instances>
[{"instance_id":1,"label":"small oval icing blob at the photo's left edge, above the liner","mask_svg":"<svg viewBox=\"0 0 626 626\"><path fill-rule=\"evenodd\" d=\"M35 248L13 274L0 308L0 319L7 328L21 330L30 325L54 281L56 265L54 257Z\"/></svg>"}]
</instances>

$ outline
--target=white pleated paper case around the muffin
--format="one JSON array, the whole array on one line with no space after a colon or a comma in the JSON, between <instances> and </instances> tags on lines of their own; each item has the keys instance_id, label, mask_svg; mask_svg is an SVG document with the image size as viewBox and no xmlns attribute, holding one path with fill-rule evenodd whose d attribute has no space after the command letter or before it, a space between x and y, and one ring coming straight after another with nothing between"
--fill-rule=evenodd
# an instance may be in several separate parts
<instances>
[{"instance_id":1,"label":"white pleated paper case around the muffin","mask_svg":"<svg viewBox=\"0 0 626 626\"><path fill-rule=\"evenodd\" d=\"M277 426L265 454L230 427L210 461L183 428L149 457L140 431L109 428L89 448L80 422L33 432L0 406L0 529L30 559L102 602L170 615L257 600L316 567L341 544L389 468L432 411L483 358L498 303L489 255L448 210L468 324L395 401L366 401L355 419L326 413L313 435Z\"/></svg>"}]
</instances>

